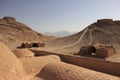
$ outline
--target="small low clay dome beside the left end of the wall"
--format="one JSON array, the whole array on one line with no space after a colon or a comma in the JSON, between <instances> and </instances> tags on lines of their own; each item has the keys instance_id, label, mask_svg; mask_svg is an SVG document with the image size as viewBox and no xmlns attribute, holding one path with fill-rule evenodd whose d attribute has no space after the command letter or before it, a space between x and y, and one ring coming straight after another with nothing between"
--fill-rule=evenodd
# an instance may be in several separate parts
<instances>
[{"instance_id":1,"label":"small low clay dome beside the left end of the wall","mask_svg":"<svg viewBox=\"0 0 120 80\"><path fill-rule=\"evenodd\" d=\"M34 57L34 53L31 52L28 49L16 49L13 50L13 53L18 57L18 58L28 58L28 57Z\"/></svg>"}]
</instances>

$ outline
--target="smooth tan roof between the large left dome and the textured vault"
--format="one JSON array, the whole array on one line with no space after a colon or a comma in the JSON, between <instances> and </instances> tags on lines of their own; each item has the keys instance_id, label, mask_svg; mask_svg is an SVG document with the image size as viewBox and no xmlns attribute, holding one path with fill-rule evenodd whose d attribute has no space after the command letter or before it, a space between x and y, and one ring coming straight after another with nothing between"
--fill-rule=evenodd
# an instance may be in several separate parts
<instances>
[{"instance_id":1,"label":"smooth tan roof between the large left dome and the textured vault","mask_svg":"<svg viewBox=\"0 0 120 80\"><path fill-rule=\"evenodd\" d=\"M46 64L59 62L60 58L56 55L49 55L34 58L20 58L20 61L23 64L26 74L35 76Z\"/></svg>"}]
</instances>

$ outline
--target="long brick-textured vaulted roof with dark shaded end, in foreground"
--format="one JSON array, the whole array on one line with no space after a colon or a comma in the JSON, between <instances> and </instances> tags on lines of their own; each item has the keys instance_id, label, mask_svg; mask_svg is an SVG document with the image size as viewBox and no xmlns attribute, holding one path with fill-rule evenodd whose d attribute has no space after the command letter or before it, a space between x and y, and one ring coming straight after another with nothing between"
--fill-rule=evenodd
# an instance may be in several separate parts
<instances>
[{"instance_id":1,"label":"long brick-textured vaulted roof with dark shaded end, in foreground","mask_svg":"<svg viewBox=\"0 0 120 80\"><path fill-rule=\"evenodd\" d=\"M119 77L63 62L46 65L38 76L43 80L120 80Z\"/></svg>"}]
</instances>

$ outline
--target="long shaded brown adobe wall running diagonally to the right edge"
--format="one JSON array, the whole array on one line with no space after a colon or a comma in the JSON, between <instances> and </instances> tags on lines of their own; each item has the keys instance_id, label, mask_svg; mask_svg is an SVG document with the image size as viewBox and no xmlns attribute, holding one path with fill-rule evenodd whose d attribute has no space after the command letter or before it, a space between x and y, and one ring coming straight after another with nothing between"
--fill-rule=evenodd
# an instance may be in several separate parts
<instances>
[{"instance_id":1,"label":"long shaded brown adobe wall running diagonally to the right edge","mask_svg":"<svg viewBox=\"0 0 120 80\"><path fill-rule=\"evenodd\" d=\"M64 62L75 64L75 65L89 68L89 69L93 69L96 71L120 76L120 63L104 61L104 60L95 59L95 58L87 58L82 56L57 54L57 53L46 52L46 51L33 51L33 52L39 54L39 56L55 54L60 56L62 61Z\"/></svg>"}]
</instances>

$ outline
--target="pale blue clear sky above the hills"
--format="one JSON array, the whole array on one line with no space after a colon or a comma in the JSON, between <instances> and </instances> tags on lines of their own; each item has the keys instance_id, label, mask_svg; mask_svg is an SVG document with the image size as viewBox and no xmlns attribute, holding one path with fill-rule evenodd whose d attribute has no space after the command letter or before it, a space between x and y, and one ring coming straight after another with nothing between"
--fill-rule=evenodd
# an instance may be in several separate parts
<instances>
[{"instance_id":1,"label":"pale blue clear sky above the hills","mask_svg":"<svg viewBox=\"0 0 120 80\"><path fill-rule=\"evenodd\" d=\"M0 0L3 16L13 16L38 32L74 32L97 19L120 20L120 0Z\"/></svg>"}]
</instances>

